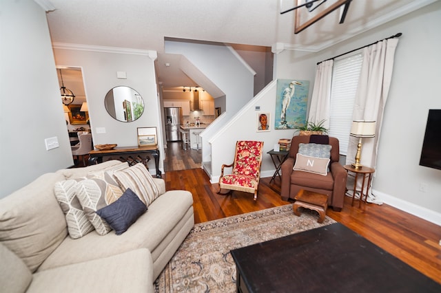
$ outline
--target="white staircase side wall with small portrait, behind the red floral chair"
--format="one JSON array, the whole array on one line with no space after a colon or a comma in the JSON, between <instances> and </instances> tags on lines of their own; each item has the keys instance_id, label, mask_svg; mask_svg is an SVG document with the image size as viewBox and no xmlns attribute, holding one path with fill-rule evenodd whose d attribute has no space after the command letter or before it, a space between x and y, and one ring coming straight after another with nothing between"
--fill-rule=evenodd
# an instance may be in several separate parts
<instances>
[{"instance_id":1,"label":"white staircase side wall with small portrait, behind the red floral chair","mask_svg":"<svg viewBox=\"0 0 441 293\"><path fill-rule=\"evenodd\" d=\"M276 63L276 78L292 78L309 80L309 97L312 94L314 83L315 54L305 52L283 51L274 56ZM274 113L276 110L276 78L267 85L253 100L250 100L243 109L219 131L214 138L208 138L212 146L212 182L217 182L222 164L231 164L237 140L263 141L263 160L260 167L262 177L271 177L275 171L271 157L267 151L274 148L280 138L292 138L294 129L274 129ZM256 106L260 107L256 111ZM271 120L269 132L257 132L256 113L269 112ZM204 133L203 133L204 134ZM205 139L205 138L204 138ZM229 160L231 162L229 162Z\"/></svg>"}]
</instances>

